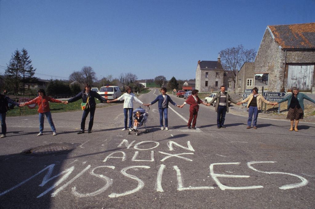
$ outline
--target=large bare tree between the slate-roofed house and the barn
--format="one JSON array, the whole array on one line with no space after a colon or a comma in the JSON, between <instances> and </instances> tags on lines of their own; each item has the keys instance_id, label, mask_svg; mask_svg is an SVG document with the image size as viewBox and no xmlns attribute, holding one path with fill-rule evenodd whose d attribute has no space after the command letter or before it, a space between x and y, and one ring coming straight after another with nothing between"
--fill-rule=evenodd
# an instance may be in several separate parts
<instances>
[{"instance_id":1,"label":"large bare tree between the slate-roofed house and the barn","mask_svg":"<svg viewBox=\"0 0 315 209\"><path fill-rule=\"evenodd\" d=\"M240 70L244 62L249 62L256 55L255 49L244 49L243 45L237 47L226 48L220 51L221 64L224 70L234 73L233 81L237 71Z\"/></svg>"}]
</instances>

